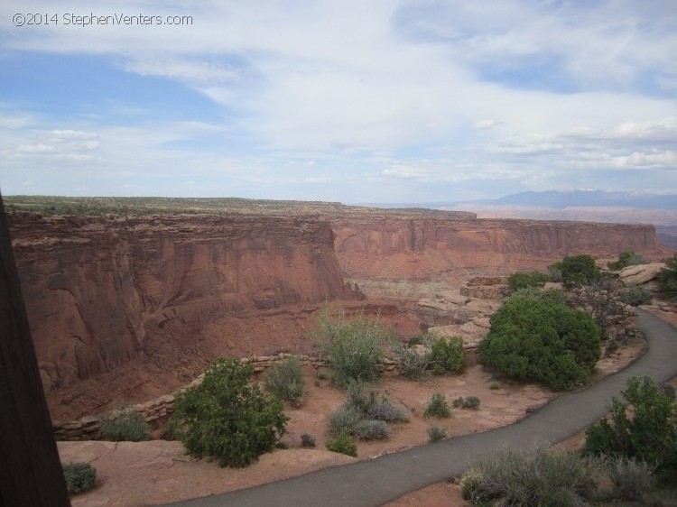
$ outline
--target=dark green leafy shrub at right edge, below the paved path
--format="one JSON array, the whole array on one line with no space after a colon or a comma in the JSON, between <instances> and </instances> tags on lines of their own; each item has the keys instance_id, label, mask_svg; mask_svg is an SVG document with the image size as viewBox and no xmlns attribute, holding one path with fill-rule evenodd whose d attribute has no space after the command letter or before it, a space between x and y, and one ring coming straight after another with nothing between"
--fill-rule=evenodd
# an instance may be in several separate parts
<instances>
[{"instance_id":1,"label":"dark green leafy shrub at right edge, below the paved path","mask_svg":"<svg viewBox=\"0 0 677 507\"><path fill-rule=\"evenodd\" d=\"M674 401L649 377L628 380L622 397L612 399L607 419L588 427L583 453L644 461L663 482L677 484Z\"/></svg>"}]
</instances>

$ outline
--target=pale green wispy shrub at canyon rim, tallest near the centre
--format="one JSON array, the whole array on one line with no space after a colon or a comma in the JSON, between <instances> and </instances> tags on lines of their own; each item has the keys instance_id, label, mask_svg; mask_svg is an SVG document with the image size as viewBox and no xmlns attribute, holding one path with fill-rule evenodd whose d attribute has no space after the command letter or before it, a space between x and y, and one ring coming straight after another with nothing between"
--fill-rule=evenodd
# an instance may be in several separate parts
<instances>
[{"instance_id":1,"label":"pale green wispy shrub at canyon rim, tallest near the centre","mask_svg":"<svg viewBox=\"0 0 677 507\"><path fill-rule=\"evenodd\" d=\"M370 381L379 376L379 364L388 333L377 322L364 317L338 320L329 318L327 306L320 309L311 337L322 354L329 355L334 367L334 382L346 386L350 381Z\"/></svg>"}]
</instances>

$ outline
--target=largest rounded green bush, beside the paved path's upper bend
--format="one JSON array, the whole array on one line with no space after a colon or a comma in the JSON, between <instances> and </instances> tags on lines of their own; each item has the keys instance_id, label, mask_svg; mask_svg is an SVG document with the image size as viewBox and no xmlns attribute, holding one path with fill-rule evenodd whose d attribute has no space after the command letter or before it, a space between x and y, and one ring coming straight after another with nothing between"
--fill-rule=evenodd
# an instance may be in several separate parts
<instances>
[{"instance_id":1,"label":"largest rounded green bush, beside the paved path's upper bend","mask_svg":"<svg viewBox=\"0 0 677 507\"><path fill-rule=\"evenodd\" d=\"M587 383L601 354L599 327L589 314L552 301L513 296L490 322L480 363L554 390Z\"/></svg>"}]
</instances>

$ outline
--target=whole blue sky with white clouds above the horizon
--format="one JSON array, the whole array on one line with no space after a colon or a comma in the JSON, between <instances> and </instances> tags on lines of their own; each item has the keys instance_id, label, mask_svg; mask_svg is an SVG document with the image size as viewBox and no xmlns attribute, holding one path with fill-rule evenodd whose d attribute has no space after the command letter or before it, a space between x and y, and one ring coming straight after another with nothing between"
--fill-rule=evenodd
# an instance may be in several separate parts
<instances>
[{"instance_id":1,"label":"whole blue sky with white clouds above the horizon","mask_svg":"<svg viewBox=\"0 0 677 507\"><path fill-rule=\"evenodd\" d=\"M0 5L6 195L677 193L674 0Z\"/></svg>"}]
</instances>

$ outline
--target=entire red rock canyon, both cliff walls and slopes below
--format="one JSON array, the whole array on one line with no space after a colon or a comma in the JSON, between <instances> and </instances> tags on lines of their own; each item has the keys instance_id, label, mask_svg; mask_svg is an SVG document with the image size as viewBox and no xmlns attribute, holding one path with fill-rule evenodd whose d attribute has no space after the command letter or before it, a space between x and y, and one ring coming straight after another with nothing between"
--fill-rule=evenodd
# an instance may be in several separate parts
<instances>
[{"instance_id":1,"label":"entire red rock canyon, both cliff walls and slopes below","mask_svg":"<svg viewBox=\"0 0 677 507\"><path fill-rule=\"evenodd\" d=\"M668 254L654 226L424 209L11 210L9 220L53 419L171 392L219 355L310 353L325 301L378 315L406 338L440 324L418 300L478 275L575 253Z\"/></svg>"}]
</instances>

